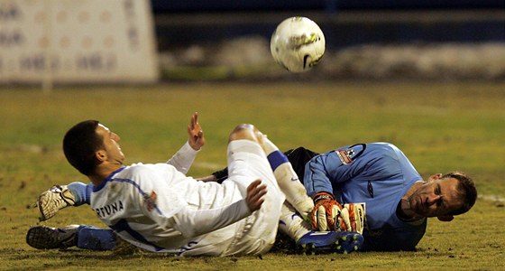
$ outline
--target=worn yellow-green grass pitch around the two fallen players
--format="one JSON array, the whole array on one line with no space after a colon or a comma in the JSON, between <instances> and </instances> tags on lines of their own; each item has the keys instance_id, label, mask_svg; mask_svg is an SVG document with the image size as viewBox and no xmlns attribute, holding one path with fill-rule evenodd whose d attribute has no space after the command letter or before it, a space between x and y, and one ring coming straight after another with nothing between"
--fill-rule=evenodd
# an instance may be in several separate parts
<instances>
[{"instance_id":1,"label":"worn yellow-green grass pitch around the two fallen players","mask_svg":"<svg viewBox=\"0 0 505 271\"><path fill-rule=\"evenodd\" d=\"M193 112L207 136L190 171L225 166L226 137L253 123L280 146L324 152L340 145L388 141L424 177L461 170L480 198L453 222L428 221L416 252L262 257L172 257L141 251L37 250L25 233L31 208L54 183L85 181L61 152L80 120L95 118L122 137L126 163L165 161L186 140ZM195 83L148 87L0 89L0 269L181 270L503 270L505 249L505 83L348 82ZM50 226L103 226L87 207L61 210Z\"/></svg>"}]
</instances>

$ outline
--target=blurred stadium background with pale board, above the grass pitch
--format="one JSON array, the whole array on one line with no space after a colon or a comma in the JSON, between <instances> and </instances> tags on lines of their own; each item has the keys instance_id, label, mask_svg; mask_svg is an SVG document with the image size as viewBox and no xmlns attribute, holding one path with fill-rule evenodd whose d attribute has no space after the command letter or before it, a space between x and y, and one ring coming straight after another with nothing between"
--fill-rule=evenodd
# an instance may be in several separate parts
<instances>
[{"instance_id":1,"label":"blurred stadium background with pale board, above the grass pitch","mask_svg":"<svg viewBox=\"0 0 505 271\"><path fill-rule=\"evenodd\" d=\"M307 16L316 72L273 63L270 35ZM505 79L503 0L0 0L0 83L222 79Z\"/></svg>"}]
</instances>

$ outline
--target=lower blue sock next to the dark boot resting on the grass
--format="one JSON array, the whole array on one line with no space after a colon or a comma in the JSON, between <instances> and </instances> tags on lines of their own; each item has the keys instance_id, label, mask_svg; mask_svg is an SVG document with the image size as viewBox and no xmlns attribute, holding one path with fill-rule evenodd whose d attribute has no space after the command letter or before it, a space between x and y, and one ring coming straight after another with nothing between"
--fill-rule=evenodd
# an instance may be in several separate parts
<instances>
[{"instance_id":1,"label":"lower blue sock next to the dark boot resting on the grass","mask_svg":"<svg viewBox=\"0 0 505 271\"><path fill-rule=\"evenodd\" d=\"M115 248L115 233L112 229L100 229L81 225L78 228L78 248L91 250L111 250Z\"/></svg>"}]
</instances>

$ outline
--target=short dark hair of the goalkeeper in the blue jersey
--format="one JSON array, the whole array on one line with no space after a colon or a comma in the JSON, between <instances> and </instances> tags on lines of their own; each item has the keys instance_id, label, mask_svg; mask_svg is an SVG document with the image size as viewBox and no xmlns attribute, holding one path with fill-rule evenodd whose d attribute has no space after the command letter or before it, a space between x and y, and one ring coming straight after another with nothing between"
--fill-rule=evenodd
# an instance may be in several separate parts
<instances>
[{"instance_id":1,"label":"short dark hair of the goalkeeper in the blue jersey","mask_svg":"<svg viewBox=\"0 0 505 271\"><path fill-rule=\"evenodd\" d=\"M462 199L464 199L463 205L459 209L453 210L448 215L455 216L470 210L477 200L477 189L475 188L475 183L473 183L472 178L462 172L446 173L441 177L441 179L444 178L454 178L458 180L457 189Z\"/></svg>"}]
</instances>

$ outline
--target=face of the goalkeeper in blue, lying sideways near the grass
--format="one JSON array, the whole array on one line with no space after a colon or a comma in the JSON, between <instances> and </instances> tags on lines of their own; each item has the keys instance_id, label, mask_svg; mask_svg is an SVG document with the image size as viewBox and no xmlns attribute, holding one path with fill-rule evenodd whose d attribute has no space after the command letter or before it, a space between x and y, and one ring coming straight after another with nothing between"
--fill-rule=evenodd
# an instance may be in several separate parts
<instances>
[{"instance_id":1,"label":"face of the goalkeeper in blue, lying sideways near the grass","mask_svg":"<svg viewBox=\"0 0 505 271\"><path fill-rule=\"evenodd\" d=\"M434 176L410 195L410 210L428 218L445 216L463 204L457 187L458 180L454 178Z\"/></svg>"}]
</instances>

